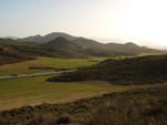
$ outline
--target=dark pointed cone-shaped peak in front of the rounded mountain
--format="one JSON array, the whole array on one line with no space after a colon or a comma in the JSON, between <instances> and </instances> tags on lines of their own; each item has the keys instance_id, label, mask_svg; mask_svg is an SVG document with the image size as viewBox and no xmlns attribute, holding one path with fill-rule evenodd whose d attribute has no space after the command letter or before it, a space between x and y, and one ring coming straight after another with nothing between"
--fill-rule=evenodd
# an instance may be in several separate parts
<instances>
[{"instance_id":1,"label":"dark pointed cone-shaped peak in front of the rounded mountain","mask_svg":"<svg viewBox=\"0 0 167 125\"><path fill-rule=\"evenodd\" d=\"M61 48L61 49L81 49L82 46L71 42L63 37L56 38L47 43L41 44L45 48Z\"/></svg>"}]
</instances>

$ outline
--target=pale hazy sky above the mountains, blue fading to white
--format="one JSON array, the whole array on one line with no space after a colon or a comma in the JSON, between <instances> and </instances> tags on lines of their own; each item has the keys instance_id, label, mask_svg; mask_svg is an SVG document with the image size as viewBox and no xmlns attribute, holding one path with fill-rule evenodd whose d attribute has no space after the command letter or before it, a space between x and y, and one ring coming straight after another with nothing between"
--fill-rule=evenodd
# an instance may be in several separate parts
<instances>
[{"instance_id":1,"label":"pale hazy sky above the mountains, blue fading to white","mask_svg":"<svg viewBox=\"0 0 167 125\"><path fill-rule=\"evenodd\" d=\"M166 0L0 0L0 37L50 32L167 45Z\"/></svg>"}]
</instances>

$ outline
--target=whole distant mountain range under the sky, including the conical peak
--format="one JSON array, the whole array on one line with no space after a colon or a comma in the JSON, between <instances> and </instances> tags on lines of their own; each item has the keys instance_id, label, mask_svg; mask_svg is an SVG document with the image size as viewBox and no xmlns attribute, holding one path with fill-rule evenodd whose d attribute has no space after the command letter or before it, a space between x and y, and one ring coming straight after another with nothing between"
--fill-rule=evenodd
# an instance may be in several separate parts
<instances>
[{"instance_id":1,"label":"whole distant mountain range under the sky, including the conical peak","mask_svg":"<svg viewBox=\"0 0 167 125\"><path fill-rule=\"evenodd\" d=\"M21 42L38 42L42 48L62 48L62 49L105 49L114 51L128 51L139 53L163 53L159 50L139 46L132 42L128 43L100 43L91 39L73 37L62 32L52 32L47 35L33 35L23 39L17 39Z\"/></svg>"}]
</instances>

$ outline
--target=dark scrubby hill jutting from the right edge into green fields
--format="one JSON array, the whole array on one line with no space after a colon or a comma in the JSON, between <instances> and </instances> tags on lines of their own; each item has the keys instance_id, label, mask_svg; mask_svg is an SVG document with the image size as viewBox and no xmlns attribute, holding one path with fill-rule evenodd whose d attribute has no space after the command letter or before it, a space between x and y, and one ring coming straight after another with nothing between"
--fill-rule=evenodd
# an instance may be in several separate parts
<instances>
[{"instance_id":1,"label":"dark scrubby hill jutting from the right edge into green fields","mask_svg":"<svg viewBox=\"0 0 167 125\"><path fill-rule=\"evenodd\" d=\"M106 60L95 66L49 79L52 82L102 80L114 84L147 84L167 82L167 55L125 60Z\"/></svg>"}]
</instances>

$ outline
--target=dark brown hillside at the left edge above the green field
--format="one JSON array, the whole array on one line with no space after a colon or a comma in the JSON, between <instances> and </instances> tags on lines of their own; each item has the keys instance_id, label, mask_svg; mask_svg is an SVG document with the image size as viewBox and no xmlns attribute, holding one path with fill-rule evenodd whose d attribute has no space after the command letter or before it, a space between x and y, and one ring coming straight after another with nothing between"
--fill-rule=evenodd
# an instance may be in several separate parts
<instances>
[{"instance_id":1,"label":"dark brown hillside at the left edge above the green field","mask_svg":"<svg viewBox=\"0 0 167 125\"><path fill-rule=\"evenodd\" d=\"M0 39L0 65L35 60L36 56L57 56L36 46L36 43L20 43L10 39Z\"/></svg>"}]
</instances>

